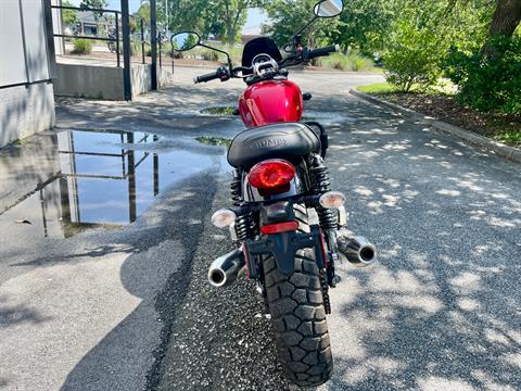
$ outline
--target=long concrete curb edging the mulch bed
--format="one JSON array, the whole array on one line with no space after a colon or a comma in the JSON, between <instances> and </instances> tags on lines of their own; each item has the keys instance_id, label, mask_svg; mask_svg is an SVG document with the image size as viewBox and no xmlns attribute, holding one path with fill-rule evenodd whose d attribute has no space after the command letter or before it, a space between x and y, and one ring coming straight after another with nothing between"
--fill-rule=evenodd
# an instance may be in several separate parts
<instances>
[{"instance_id":1,"label":"long concrete curb edging the mulch bed","mask_svg":"<svg viewBox=\"0 0 521 391\"><path fill-rule=\"evenodd\" d=\"M510 159L514 162L521 163L521 149L514 148L514 147L509 147L506 146L501 142L494 141L487 137L476 135L474 133L471 133L469 130L466 130L463 128L460 128L459 126L450 125L447 124L446 122L439 121L436 118L430 117L424 114L420 114L418 112L415 112L410 109L402 108L398 104L391 103L391 102L385 102L381 99L374 98L372 96L369 96L367 93L357 91L355 89L350 89L350 93L354 94L355 97L361 98L370 103L378 104L378 105L383 105L389 109L392 109L394 111L401 112L402 114L415 119L422 122L424 124L428 124L430 126L435 127L439 130L448 133L453 135L454 137L457 137L461 140L468 141L474 146L484 148L486 150L490 150L497 155L500 155L503 157Z\"/></svg>"}]
</instances>

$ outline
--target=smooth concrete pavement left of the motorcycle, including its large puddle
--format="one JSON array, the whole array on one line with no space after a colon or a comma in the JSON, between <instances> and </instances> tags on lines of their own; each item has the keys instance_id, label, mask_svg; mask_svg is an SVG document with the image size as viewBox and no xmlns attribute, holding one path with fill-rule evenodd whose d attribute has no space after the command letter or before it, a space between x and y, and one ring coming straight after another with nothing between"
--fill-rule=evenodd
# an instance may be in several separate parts
<instances>
[{"instance_id":1,"label":"smooth concrete pavement left of the motorcycle, including its large puddle","mask_svg":"<svg viewBox=\"0 0 521 391\"><path fill-rule=\"evenodd\" d=\"M0 389L145 389L229 169L211 142L223 119L176 133L58 111L55 130L0 151Z\"/></svg>"}]
</instances>

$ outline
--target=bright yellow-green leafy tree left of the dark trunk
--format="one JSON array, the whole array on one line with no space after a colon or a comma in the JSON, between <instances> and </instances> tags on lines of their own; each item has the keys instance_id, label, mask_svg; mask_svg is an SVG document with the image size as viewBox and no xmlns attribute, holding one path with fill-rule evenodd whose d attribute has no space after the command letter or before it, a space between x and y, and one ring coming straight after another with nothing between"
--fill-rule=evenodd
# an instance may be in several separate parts
<instances>
[{"instance_id":1,"label":"bright yellow-green leafy tree left of the dark trunk","mask_svg":"<svg viewBox=\"0 0 521 391\"><path fill-rule=\"evenodd\" d=\"M439 0L389 1L393 17L385 35L387 80L404 91L427 89L442 76L449 49L473 50L486 34L490 3Z\"/></svg>"}]
</instances>

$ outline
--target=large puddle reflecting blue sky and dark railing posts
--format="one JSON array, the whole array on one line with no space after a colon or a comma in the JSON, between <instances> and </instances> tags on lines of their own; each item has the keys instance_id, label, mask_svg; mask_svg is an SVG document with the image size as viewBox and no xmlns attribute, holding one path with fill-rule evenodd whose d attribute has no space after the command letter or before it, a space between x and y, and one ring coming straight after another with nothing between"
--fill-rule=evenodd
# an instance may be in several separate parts
<instances>
[{"instance_id":1,"label":"large puddle reflecting blue sky and dark railing posts","mask_svg":"<svg viewBox=\"0 0 521 391\"><path fill-rule=\"evenodd\" d=\"M0 210L1 230L63 238L93 227L119 228L166 187L213 164L211 156L154 149L158 137L143 133L65 130L54 140L58 173ZM15 224L21 220L26 224Z\"/></svg>"}]
</instances>

